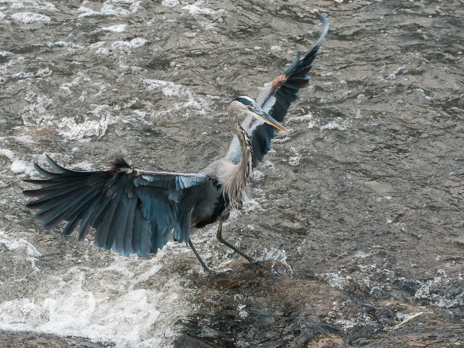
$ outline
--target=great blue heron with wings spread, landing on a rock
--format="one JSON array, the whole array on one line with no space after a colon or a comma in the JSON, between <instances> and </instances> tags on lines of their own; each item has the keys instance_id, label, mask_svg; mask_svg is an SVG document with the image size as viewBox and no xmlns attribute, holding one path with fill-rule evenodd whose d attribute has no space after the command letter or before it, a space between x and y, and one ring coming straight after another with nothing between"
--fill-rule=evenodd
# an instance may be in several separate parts
<instances>
[{"instance_id":1,"label":"great blue heron with wings spread, landing on a rock","mask_svg":"<svg viewBox=\"0 0 464 348\"><path fill-rule=\"evenodd\" d=\"M298 53L283 75L260 88L256 101L238 97L230 103L229 121L235 137L224 158L198 174L184 174L134 169L121 156L110 169L77 171L63 168L46 156L57 172L34 164L47 179L25 180L42 186L23 191L28 197L38 198L27 206L40 209L35 216L45 229L65 220L68 224L63 234L71 234L80 225L82 241L92 226L96 246L124 256L136 253L148 258L163 248L173 234L178 242L190 245L205 272L209 269L190 240L191 228L219 221L217 239L255 263L222 238L222 223L247 198L253 168L271 148L274 127L288 133L279 122L298 90L309 85L308 73L328 30L325 17L316 14L323 32L313 48L302 56ZM238 121L241 113L248 114L242 124Z\"/></svg>"}]
</instances>

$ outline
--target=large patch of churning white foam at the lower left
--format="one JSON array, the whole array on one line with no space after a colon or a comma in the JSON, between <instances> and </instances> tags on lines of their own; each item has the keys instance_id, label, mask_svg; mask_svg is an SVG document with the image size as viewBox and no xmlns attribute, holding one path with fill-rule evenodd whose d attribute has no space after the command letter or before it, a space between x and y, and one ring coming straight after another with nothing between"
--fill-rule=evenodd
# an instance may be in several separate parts
<instances>
[{"instance_id":1,"label":"large patch of churning white foam at the lower left","mask_svg":"<svg viewBox=\"0 0 464 348\"><path fill-rule=\"evenodd\" d=\"M108 266L42 272L41 296L0 303L0 328L89 337L117 348L171 347L175 322L191 310L193 291L181 286L188 281L174 275L152 288L143 282L159 277L161 258L111 257Z\"/></svg>"}]
</instances>

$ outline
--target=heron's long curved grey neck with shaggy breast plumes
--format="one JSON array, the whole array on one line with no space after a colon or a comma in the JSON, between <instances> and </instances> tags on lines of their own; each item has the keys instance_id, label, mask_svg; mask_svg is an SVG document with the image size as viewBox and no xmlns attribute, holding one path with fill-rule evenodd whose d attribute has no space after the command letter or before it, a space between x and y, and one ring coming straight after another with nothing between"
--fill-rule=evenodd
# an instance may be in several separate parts
<instances>
[{"instance_id":1,"label":"heron's long curved grey neck with shaggy breast plumes","mask_svg":"<svg viewBox=\"0 0 464 348\"><path fill-rule=\"evenodd\" d=\"M230 204L237 207L246 196L246 188L253 175L253 148L250 137L238 121L240 109L231 105L228 108L229 121L240 143L240 162L233 165L221 178L223 191L229 197Z\"/></svg>"}]
</instances>

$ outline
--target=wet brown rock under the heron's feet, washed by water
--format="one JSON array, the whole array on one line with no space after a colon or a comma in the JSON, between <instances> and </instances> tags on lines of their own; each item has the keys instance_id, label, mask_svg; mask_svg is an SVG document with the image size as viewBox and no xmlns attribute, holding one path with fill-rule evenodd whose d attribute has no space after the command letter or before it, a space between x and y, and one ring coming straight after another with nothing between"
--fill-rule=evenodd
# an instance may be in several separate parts
<instances>
[{"instance_id":1,"label":"wet brown rock under the heron's feet, washed by water","mask_svg":"<svg viewBox=\"0 0 464 348\"><path fill-rule=\"evenodd\" d=\"M200 276L204 308L177 323L183 335L176 347L187 342L194 347L380 347L380 342L401 340L412 340L413 347L453 341L453 333L454 342L464 337L460 325L443 312L399 301L366 305L316 279L297 280L274 260L263 267L233 261L218 271ZM422 334L410 337L411 327L423 328ZM441 333L434 336L430 330Z\"/></svg>"}]
</instances>

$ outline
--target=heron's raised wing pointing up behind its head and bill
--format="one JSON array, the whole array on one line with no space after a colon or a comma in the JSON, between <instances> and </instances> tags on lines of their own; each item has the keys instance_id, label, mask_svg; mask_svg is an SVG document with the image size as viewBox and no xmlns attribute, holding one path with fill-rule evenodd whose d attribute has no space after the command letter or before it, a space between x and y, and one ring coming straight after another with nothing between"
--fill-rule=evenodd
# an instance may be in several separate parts
<instances>
[{"instance_id":1,"label":"heron's raised wing pointing up behind its head and bill","mask_svg":"<svg viewBox=\"0 0 464 348\"><path fill-rule=\"evenodd\" d=\"M316 44L300 56L296 55L295 61L287 68L283 75L277 77L272 82L266 83L264 87L259 87L259 96L256 102L271 117L282 122L287 115L290 104L298 97L298 90L309 85L309 71L313 66L313 61L318 53L320 42L324 38L329 25L324 15L316 12L317 17L322 22L323 31ZM258 161L262 161L264 155L271 149L271 139L274 138L275 128L267 123L255 119L249 115L242 126L247 130L253 147L253 167L256 167ZM236 138L236 137L235 137ZM240 145L238 139L233 139L229 148L228 157L236 164L240 161Z\"/></svg>"}]
</instances>

